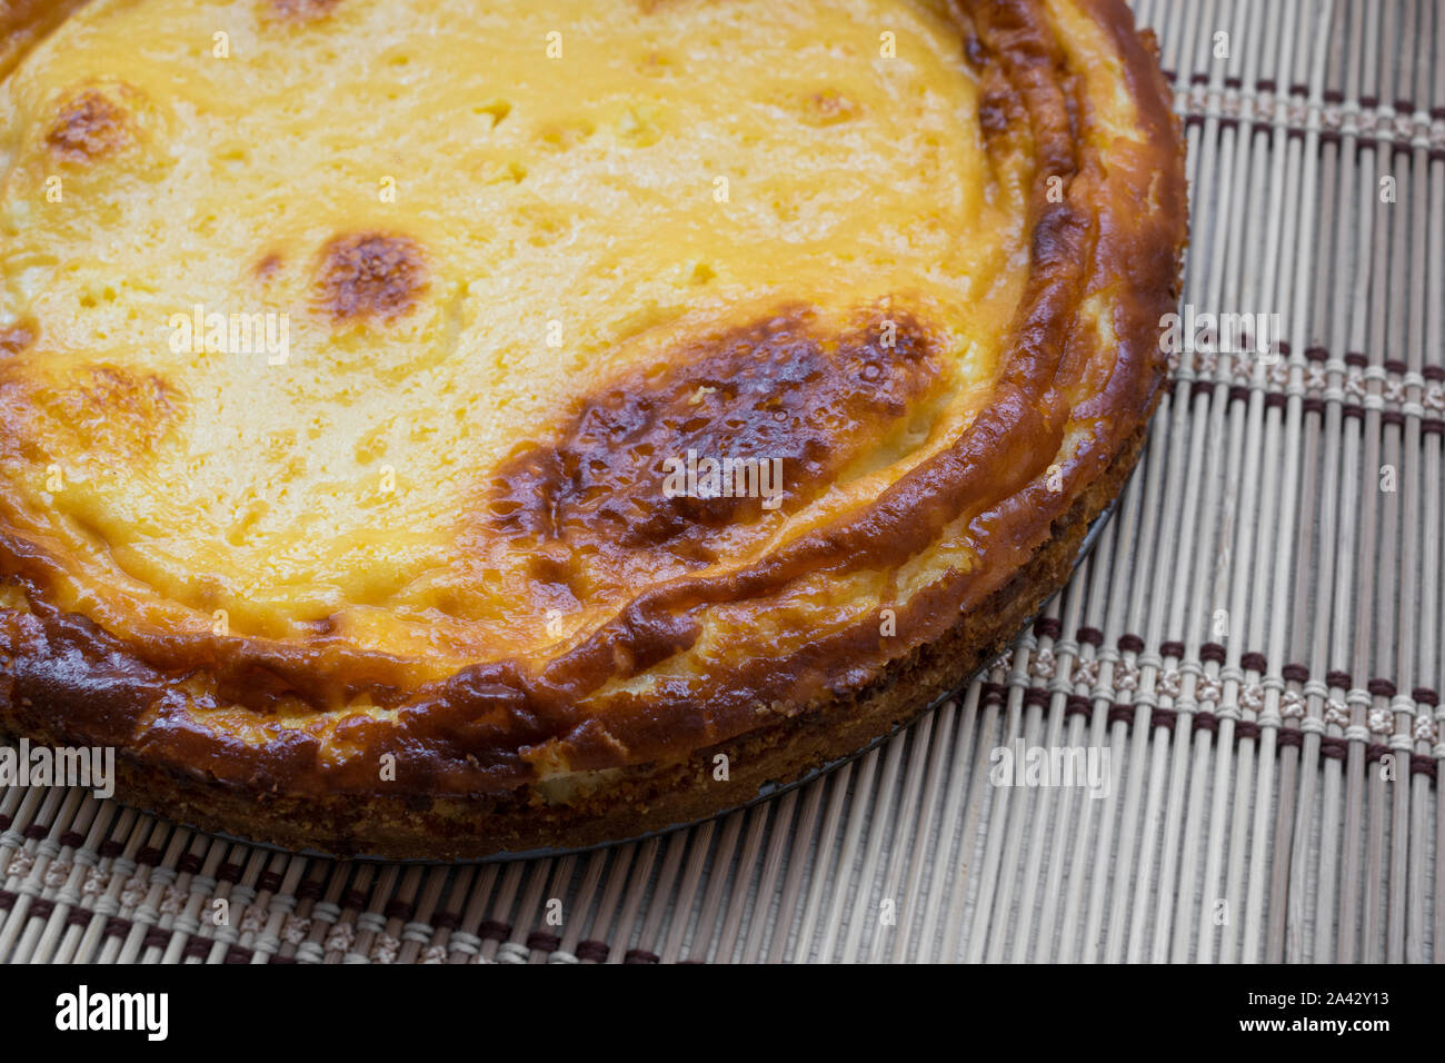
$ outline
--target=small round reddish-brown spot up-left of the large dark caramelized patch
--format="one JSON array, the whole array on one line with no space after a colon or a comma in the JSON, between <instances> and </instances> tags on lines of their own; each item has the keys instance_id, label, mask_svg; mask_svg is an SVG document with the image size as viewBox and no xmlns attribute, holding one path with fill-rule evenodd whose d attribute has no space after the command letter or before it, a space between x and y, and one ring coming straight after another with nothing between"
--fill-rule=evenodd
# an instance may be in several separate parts
<instances>
[{"instance_id":1,"label":"small round reddish-brown spot up-left of the large dark caramelized patch","mask_svg":"<svg viewBox=\"0 0 1445 1063\"><path fill-rule=\"evenodd\" d=\"M361 233L327 244L316 301L337 320L393 318L416 305L426 286L422 249L405 236Z\"/></svg>"}]
</instances>

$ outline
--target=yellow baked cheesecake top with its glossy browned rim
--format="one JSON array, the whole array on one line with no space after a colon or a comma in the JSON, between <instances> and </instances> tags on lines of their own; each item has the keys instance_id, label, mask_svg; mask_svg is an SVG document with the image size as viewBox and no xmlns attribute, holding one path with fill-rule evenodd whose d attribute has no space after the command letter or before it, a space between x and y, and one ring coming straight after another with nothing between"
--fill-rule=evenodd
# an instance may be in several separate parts
<instances>
[{"instance_id":1,"label":"yellow baked cheesecake top with its glossy browned rim","mask_svg":"<svg viewBox=\"0 0 1445 1063\"><path fill-rule=\"evenodd\" d=\"M1147 412L1166 101L1113 0L92 0L0 84L19 681L458 793L868 681Z\"/></svg>"}]
</instances>

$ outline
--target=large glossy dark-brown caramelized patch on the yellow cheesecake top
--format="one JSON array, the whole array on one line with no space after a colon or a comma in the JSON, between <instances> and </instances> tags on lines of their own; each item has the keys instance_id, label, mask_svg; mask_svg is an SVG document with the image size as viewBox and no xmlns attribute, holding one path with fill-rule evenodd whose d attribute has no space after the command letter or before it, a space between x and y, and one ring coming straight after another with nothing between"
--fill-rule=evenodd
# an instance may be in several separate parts
<instances>
[{"instance_id":1,"label":"large glossy dark-brown caramelized patch on the yellow cheesecake top","mask_svg":"<svg viewBox=\"0 0 1445 1063\"><path fill-rule=\"evenodd\" d=\"M720 529L775 509L764 506L762 466L770 476L780 466L776 512L795 512L932 388L938 364L923 330L909 320L894 328L893 346L881 321L818 336L806 311L789 311L659 353L660 370L629 373L588 395L555 443L503 466L484 519L523 550L566 558L562 570L585 568L592 557L607 564L618 550L709 563ZM668 490L689 451L698 490L669 498L686 483L672 479ZM734 463L733 496L705 496L702 458ZM717 483L728 490L721 474ZM549 574L572 589L555 567Z\"/></svg>"}]
</instances>

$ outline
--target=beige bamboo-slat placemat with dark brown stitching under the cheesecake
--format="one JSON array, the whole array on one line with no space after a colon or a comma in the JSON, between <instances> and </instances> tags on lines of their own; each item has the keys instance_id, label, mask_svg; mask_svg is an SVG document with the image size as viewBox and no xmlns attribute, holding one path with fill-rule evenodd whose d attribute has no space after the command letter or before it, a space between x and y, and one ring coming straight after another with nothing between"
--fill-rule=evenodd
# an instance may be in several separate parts
<instances>
[{"instance_id":1,"label":"beige bamboo-slat placemat with dark brown stitching under the cheesecake","mask_svg":"<svg viewBox=\"0 0 1445 1063\"><path fill-rule=\"evenodd\" d=\"M9 788L0 957L1445 959L1445 4L1136 10L1188 123L1185 302L1280 314L1279 357L1181 359L1092 557L957 700L747 811L530 862ZM1107 749L1110 797L993 785L1019 739Z\"/></svg>"}]
</instances>

